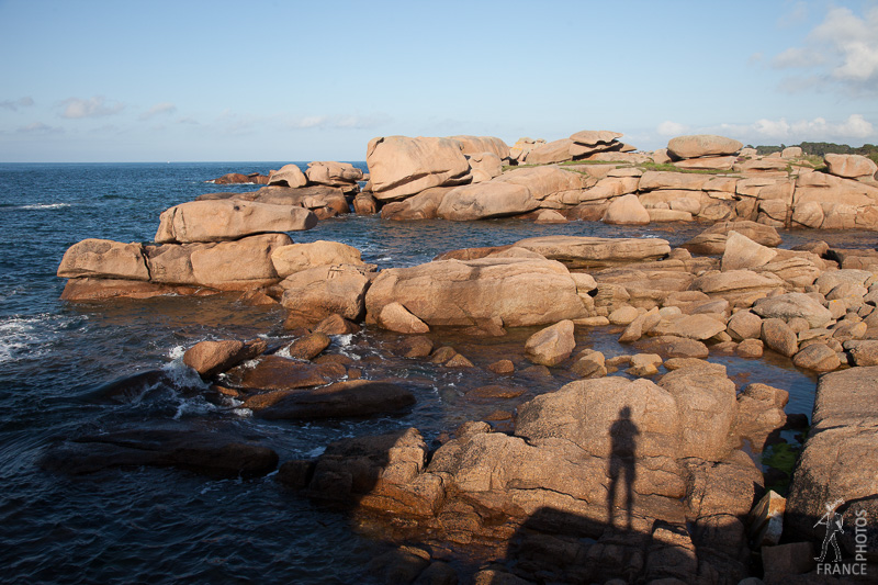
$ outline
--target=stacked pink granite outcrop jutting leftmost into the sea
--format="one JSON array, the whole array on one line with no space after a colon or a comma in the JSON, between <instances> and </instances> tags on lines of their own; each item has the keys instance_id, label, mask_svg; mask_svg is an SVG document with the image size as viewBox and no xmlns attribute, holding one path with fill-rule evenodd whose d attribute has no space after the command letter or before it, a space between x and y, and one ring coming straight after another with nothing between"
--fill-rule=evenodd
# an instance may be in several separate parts
<instances>
[{"instance_id":1,"label":"stacked pink granite outcrop jutting leftmost into the sea","mask_svg":"<svg viewBox=\"0 0 878 585\"><path fill-rule=\"evenodd\" d=\"M165 211L155 244L86 239L58 267L69 279L61 299L251 291L277 284L272 252L292 244L286 232L309 229L317 216L295 205L192 201Z\"/></svg>"}]
</instances>

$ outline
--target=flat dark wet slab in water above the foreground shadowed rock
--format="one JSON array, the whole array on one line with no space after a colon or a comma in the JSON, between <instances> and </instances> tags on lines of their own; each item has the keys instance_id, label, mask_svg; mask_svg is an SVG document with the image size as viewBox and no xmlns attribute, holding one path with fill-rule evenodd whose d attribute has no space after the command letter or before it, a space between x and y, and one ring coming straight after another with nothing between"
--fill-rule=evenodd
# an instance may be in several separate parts
<instances>
[{"instance_id":1,"label":"flat dark wet slab in water above the foreground shadowed rock","mask_svg":"<svg viewBox=\"0 0 878 585\"><path fill-rule=\"evenodd\" d=\"M262 418L312 420L394 413L415 404L408 390L390 382L349 380L284 396L259 410Z\"/></svg>"}]
</instances>

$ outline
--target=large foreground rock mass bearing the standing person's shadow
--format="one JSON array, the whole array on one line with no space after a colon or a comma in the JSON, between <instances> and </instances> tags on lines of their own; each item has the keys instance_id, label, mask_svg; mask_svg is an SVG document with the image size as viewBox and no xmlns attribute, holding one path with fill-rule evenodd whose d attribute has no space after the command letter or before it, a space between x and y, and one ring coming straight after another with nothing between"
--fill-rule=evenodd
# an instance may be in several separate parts
<instances>
[{"instance_id":1,"label":"large foreground rock mass bearing the standing person's shadow","mask_svg":"<svg viewBox=\"0 0 878 585\"><path fill-rule=\"evenodd\" d=\"M430 458L410 428L337 441L279 477L442 541L499 542L533 582L736 583L763 483L736 448L740 415L724 368L694 363L657 383L573 382L521 405L513 432L468 423Z\"/></svg>"}]
</instances>

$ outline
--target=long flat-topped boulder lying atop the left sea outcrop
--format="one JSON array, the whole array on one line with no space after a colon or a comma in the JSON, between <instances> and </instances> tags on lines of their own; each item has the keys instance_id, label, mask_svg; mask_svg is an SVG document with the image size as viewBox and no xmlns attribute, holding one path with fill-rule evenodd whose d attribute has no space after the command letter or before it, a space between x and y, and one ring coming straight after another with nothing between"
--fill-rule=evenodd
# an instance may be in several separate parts
<instances>
[{"instance_id":1,"label":"long flat-topped boulder lying atop the left sea outcrop","mask_svg":"<svg viewBox=\"0 0 878 585\"><path fill-rule=\"evenodd\" d=\"M249 201L190 201L161 213L157 244L222 241L266 232L300 232L317 225L308 210Z\"/></svg>"}]
</instances>

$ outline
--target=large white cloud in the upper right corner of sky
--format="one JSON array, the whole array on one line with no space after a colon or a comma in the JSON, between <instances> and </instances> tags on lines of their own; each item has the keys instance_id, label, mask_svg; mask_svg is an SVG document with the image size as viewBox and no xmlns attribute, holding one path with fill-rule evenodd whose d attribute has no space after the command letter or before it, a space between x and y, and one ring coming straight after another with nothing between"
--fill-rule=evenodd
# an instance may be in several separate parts
<instances>
[{"instance_id":1,"label":"large white cloud in the upper right corner of sky","mask_svg":"<svg viewBox=\"0 0 878 585\"><path fill-rule=\"evenodd\" d=\"M878 93L876 31L878 7L868 8L862 16L851 9L833 7L806 37L804 46L787 48L775 56L773 65L817 69L817 77L824 82L836 81L860 93Z\"/></svg>"}]
</instances>

